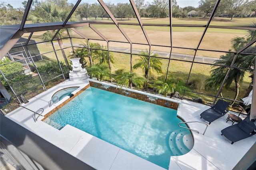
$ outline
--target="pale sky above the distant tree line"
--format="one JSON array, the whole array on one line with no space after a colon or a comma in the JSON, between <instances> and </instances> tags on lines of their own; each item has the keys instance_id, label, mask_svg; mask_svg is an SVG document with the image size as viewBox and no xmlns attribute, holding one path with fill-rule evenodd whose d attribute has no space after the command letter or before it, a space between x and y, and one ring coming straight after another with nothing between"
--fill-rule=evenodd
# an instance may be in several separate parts
<instances>
[{"instance_id":1,"label":"pale sky above the distant tree line","mask_svg":"<svg viewBox=\"0 0 256 170\"><path fill-rule=\"evenodd\" d=\"M10 4L13 6L13 8L19 8L19 7L22 7L22 2L24 2L25 0L0 0L1 2L6 2L6 4ZM105 3L107 2L111 2L111 3L118 3L118 2L123 2L123 3L126 3L126 2L129 2L129 0L103 0ZM145 2L153 2L154 0L145 0ZM177 4L178 6L180 6L180 8L184 8L186 6L194 6L194 7L198 7L198 2L200 0L176 0L177 1ZM69 3L73 3L73 4L76 4L77 0L68 0ZM97 2L96 0L82 0L82 2ZM82 3L80 2L80 3Z\"/></svg>"}]
</instances>

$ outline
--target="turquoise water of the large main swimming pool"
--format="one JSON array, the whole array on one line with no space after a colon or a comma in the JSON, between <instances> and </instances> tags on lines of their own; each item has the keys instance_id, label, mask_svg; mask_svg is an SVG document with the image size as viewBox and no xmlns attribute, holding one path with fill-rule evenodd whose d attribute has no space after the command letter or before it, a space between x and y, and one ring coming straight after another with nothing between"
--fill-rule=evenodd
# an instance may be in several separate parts
<instances>
[{"instance_id":1,"label":"turquoise water of the large main swimming pool","mask_svg":"<svg viewBox=\"0 0 256 170\"><path fill-rule=\"evenodd\" d=\"M58 128L70 124L168 169L170 156L193 147L190 131L178 126L176 116L176 110L89 87L48 122Z\"/></svg>"}]
</instances>

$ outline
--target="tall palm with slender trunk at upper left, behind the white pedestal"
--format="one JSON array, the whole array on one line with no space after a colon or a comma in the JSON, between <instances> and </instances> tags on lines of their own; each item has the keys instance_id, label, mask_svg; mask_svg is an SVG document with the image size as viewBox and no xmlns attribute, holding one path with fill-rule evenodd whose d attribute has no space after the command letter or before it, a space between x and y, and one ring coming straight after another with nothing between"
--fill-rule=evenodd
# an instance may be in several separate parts
<instances>
[{"instance_id":1,"label":"tall palm with slender trunk at upper left, behind the white pedestal","mask_svg":"<svg viewBox=\"0 0 256 170\"><path fill-rule=\"evenodd\" d=\"M40 7L38 7L38 10L40 12L32 11L28 18L33 22L33 23L48 23L48 22L62 22L66 20L68 17L69 11L63 8L59 8L58 6L52 4L52 3L47 3L43 2ZM56 34L58 30L49 30L46 31L44 34L42 34L42 41L46 41L46 44L50 44L50 40L52 40L53 36ZM68 59L66 57L66 54L63 50L63 32L64 29L61 29L58 34L56 35L56 39L58 40L58 44L60 46L64 61L66 66L69 66Z\"/></svg>"}]
</instances>

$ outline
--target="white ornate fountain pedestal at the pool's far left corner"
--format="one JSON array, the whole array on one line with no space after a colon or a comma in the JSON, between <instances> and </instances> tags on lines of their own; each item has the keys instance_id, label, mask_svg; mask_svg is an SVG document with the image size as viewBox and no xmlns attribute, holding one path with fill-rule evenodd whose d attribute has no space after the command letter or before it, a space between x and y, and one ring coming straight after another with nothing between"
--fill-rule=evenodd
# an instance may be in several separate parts
<instances>
[{"instance_id":1,"label":"white ornate fountain pedestal at the pool's far left corner","mask_svg":"<svg viewBox=\"0 0 256 170\"><path fill-rule=\"evenodd\" d=\"M80 64L80 58L69 59L72 62L72 71L69 71L70 81L85 80L88 78L88 73L85 68Z\"/></svg>"}]
</instances>

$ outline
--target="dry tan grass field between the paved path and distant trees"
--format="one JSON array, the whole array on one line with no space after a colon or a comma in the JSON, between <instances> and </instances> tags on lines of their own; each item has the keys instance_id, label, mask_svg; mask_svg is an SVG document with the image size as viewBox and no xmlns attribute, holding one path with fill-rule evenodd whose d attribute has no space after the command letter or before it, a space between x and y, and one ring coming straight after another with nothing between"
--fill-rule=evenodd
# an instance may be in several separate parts
<instances>
[{"instance_id":1,"label":"dry tan grass field between the paved path and distant trees","mask_svg":"<svg viewBox=\"0 0 256 170\"><path fill-rule=\"evenodd\" d=\"M94 19L94 18L91 18ZM218 18L215 17L211 25L218 25L218 26L249 26L255 18L234 18L232 22L230 22L230 18ZM97 21L97 22L112 22L112 20L90 20L90 21ZM124 18L122 21L118 20L118 22L136 22L136 18L132 18L131 20L127 20ZM154 24L169 24L169 18L142 18L143 23L154 23ZM172 18L173 24L207 24L208 18ZM106 25L106 24L92 24L95 28L97 28L108 40L117 40L117 41L124 41L128 42L126 38L122 35L122 33L118 30L115 25ZM143 43L148 44L146 38L140 28L140 26L132 26L132 25L120 25L124 31L126 32L127 36L132 40L134 43ZM150 39L151 44L155 45L166 45L170 46L170 27L169 26L144 26L148 37ZM87 38L90 39L101 39L99 35L97 35L91 28L88 26L76 28L80 32L82 32ZM191 27L173 27L172 30L172 46L173 47L184 47L184 48L196 48L198 46L198 42L202 36L202 32L204 28L191 28ZM41 41L41 36L44 32L34 32L32 39L36 40L36 42ZM199 49L208 49L208 50L222 50L228 51L230 49L230 40L235 38L236 36L244 36L246 33L245 30L232 30L232 29L220 29L220 28L208 28L202 43L199 46ZM75 32L72 32L72 37L80 37ZM168 36L166 36L168 35ZM24 38L28 38L29 34L24 34ZM66 33L64 33L64 37L67 37ZM63 40L64 43L69 43L70 40ZM80 39L73 38L72 42L74 44L81 44ZM100 41L104 43L104 41ZM103 45L106 45L104 43ZM127 46L124 43L115 43L114 46L117 47L124 47ZM136 45L138 49L145 49L144 45ZM175 49L175 48L174 48ZM166 51L165 48L159 47L159 51ZM169 52L169 51L168 51ZM184 49L176 49L177 53L181 54L188 54ZM191 55L191 54L188 54ZM209 57L216 57L222 55L219 54L212 54L211 52L206 51L198 51L198 56L209 56Z\"/></svg>"}]
</instances>

